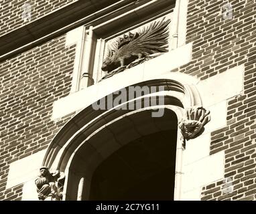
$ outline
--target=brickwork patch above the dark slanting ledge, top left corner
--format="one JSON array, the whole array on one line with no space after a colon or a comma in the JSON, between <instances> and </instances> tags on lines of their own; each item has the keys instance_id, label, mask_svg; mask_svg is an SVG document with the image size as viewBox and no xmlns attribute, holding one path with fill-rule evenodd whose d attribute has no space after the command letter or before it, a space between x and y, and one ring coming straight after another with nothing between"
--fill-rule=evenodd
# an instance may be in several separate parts
<instances>
[{"instance_id":1,"label":"brickwork patch above the dark slanting ledge, top left corner","mask_svg":"<svg viewBox=\"0 0 256 214\"><path fill-rule=\"evenodd\" d=\"M1 0L0 36L78 0ZM31 19L23 21L23 5L31 5Z\"/></svg>"}]
</instances>

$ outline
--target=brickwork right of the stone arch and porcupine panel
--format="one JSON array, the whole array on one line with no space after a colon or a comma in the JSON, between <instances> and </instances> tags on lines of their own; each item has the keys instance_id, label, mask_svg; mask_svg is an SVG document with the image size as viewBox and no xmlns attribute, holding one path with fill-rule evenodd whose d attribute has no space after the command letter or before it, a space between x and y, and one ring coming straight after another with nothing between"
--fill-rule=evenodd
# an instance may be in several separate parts
<instances>
[{"instance_id":1,"label":"brickwork right of the stone arch and porcupine panel","mask_svg":"<svg viewBox=\"0 0 256 214\"><path fill-rule=\"evenodd\" d=\"M223 19L222 6L233 6ZM256 1L190 0L187 42L192 62L180 72L201 80L245 65L244 90L227 100L227 126L212 132L210 154L225 151L225 179L202 188L202 200L256 199ZM233 185L232 191L223 191Z\"/></svg>"}]
</instances>

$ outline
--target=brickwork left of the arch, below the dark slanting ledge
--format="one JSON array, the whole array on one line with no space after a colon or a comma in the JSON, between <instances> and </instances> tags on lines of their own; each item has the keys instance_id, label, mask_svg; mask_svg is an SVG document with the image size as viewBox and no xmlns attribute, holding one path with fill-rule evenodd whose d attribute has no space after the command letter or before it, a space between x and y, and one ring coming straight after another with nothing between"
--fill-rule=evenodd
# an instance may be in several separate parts
<instances>
[{"instance_id":1,"label":"brickwork left of the arch, below the dark slanting ledge","mask_svg":"<svg viewBox=\"0 0 256 214\"><path fill-rule=\"evenodd\" d=\"M70 92L75 45L65 35L0 64L0 200L20 199L5 189L9 164L45 149L71 116L52 121L52 104Z\"/></svg>"}]
</instances>

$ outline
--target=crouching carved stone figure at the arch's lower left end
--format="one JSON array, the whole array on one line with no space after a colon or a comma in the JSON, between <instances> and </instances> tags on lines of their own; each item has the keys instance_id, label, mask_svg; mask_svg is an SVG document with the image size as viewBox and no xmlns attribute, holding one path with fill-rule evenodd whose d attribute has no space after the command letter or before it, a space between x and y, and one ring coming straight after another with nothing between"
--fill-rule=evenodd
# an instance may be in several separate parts
<instances>
[{"instance_id":1,"label":"crouching carved stone figure at the arch's lower left end","mask_svg":"<svg viewBox=\"0 0 256 214\"><path fill-rule=\"evenodd\" d=\"M62 189L64 185L64 175L60 175L59 171L50 173L48 167L40 168L40 176L35 181L38 199L45 200L52 197L56 200L62 199Z\"/></svg>"}]
</instances>

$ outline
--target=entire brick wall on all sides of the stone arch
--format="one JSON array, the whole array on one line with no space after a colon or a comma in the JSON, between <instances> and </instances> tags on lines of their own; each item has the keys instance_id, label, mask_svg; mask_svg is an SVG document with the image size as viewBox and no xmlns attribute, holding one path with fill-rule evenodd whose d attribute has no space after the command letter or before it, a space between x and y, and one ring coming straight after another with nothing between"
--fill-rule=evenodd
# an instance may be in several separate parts
<instances>
[{"instance_id":1,"label":"entire brick wall on all sides of the stone arch","mask_svg":"<svg viewBox=\"0 0 256 214\"><path fill-rule=\"evenodd\" d=\"M4 1L4 4L10 2L14 3ZM52 7L62 6L57 2L51 1L55 5ZM68 2L71 1L65 4ZM225 151L225 180L203 187L201 199L255 200L256 2L229 0L233 5L233 19L225 20L222 6L226 2L189 1L187 43L193 42L192 62L178 70L205 80L245 65L243 93L227 100L227 126L211 133L210 154ZM44 11L46 5L42 5L36 4L34 11L36 8ZM2 17L3 13L9 17L8 13L15 11L5 10L6 7L0 11ZM47 13L48 10L40 13L40 17ZM16 21L14 26L13 19L9 19L11 17L0 23L0 35L23 25ZM32 16L33 19L36 16ZM64 42L64 36L58 37L0 64L0 200L21 198L22 185L5 189L9 164L46 148L71 117L66 116L58 122L50 120L54 100L67 96L70 91L75 46L65 48ZM233 185L229 193L223 191L226 179Z\"/></svg>"}]
</instances>

